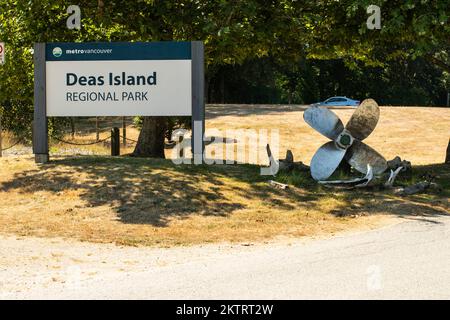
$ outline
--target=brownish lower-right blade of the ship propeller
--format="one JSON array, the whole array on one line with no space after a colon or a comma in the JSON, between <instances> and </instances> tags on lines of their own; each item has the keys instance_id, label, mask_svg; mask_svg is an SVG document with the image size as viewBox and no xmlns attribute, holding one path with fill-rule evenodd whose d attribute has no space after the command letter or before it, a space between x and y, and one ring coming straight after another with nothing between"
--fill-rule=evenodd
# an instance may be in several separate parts
<instances>
[{"instance_id":1,"label":"brownish lower-right blade of the ship propeller","mask_svg":"<svg viewBox=\"0 0 450 320\"><path fill-rule=\"evenodd\" d=\"M387 169L387 162L384 157L358 140L353 141L346 155L347 162L361 173L367 173L367 165L370 165L373 174L383 173Z\"/></svg>"}]
</instances>

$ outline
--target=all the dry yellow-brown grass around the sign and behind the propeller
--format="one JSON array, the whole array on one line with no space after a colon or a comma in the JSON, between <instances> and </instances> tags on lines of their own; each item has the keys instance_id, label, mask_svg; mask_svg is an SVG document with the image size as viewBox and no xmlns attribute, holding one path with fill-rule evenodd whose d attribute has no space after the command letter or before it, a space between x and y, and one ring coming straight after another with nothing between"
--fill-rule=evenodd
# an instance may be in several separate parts
<instances>
[{"instance_id":1,"label":"all the dry yellow-brown grass around the sign and behind the propeller","mask_svg":"<svg viewBox=\"0 0 450 320\"><path fill-rule=\"evenodd\" d=\"M295 106L215 106L207 110L207 128L278 128L280 154L291 149L296 160L308 164L326 138L303 122L302 112ZM336 110L344 123L352 112ZM257 165L177 166L169 160L111 158L102 156L108 153L104 146L86 147L95 156L54 155L41 166L29 155L8 156L0 159L0 233L170 246L317 236L375 227L380 217L448 214L450 166L442 163L449 123L450 109L381 109L367 143L388 159L399 155L412 162L413 174L398 183L433 173L443 187L408 197L330 191L304 174L298 179L280 175L281 181L301 183L279 190L259 175ZM128 136L137 138L137 130L129 128ZM53 145L52 152L63 148ZM257 162L267 160L261 156Z\"/></svg>"}]
</instances>

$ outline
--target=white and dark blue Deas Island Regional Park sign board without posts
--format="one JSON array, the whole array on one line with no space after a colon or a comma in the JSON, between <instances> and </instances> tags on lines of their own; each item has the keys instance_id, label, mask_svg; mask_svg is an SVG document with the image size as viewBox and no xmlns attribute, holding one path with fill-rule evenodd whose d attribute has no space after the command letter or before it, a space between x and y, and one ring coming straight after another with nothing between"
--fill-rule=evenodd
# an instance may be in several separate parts
<instances>
[{"instance_id":1,"label":"white and dark blue Deas Island Regional Park sign board without posts","mask_svg":"<svg viewBox=\"0 0 450 320\"><path fill-rule=\"evenodd\" d=\"M192 115L189 45L47 44L47 116Z\"/></svg>"}]
</instances>

